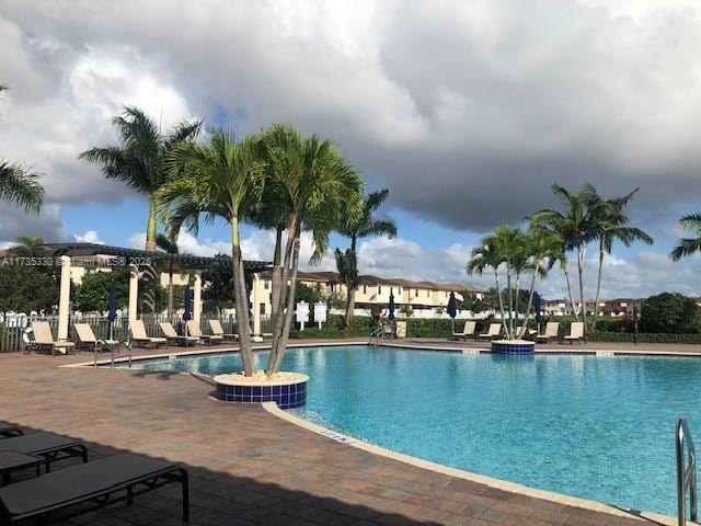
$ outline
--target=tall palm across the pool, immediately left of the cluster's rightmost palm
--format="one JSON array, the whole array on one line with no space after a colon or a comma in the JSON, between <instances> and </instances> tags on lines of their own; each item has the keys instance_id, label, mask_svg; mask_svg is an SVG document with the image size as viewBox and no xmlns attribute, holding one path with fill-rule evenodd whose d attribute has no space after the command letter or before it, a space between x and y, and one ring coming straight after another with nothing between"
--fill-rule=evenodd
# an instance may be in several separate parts
<instances>
[{"instance_id":1,"label":"tall palm across the pool, immediately left of the cluster's rightmost palm","mask_svg":"<svg viewBox=\"0 0 701 526\"><path fill-rule=\"evenodd\" d=\"M562 204L563 211L554 209L539 210L530 217L530 221L535 228L544 228L559 233L563 240L566 252L576 251L579 300L582 305L581 313L582 321L585 322L586 328L587 309L584 298L584 259L586 245L597 238L597 232L591 215L589 214L590 210L588 210L586 206L586 198L583 194L568 192L559 184L553 184L551 190ZM576 313L574 301L572 301L572 306Z\"/></svg>"}]
</instances>

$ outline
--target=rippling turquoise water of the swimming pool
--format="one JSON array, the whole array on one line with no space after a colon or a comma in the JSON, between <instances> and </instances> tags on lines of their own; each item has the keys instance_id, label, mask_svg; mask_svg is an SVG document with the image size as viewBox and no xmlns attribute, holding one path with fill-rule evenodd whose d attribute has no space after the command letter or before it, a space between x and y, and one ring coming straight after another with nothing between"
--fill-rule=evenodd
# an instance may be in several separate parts
<instances>
[{"instance_id":1,"label":"rippling turquoise water of the swimming pool","mask_svg":"<svg viewBox=\"0 0 701 526\"><path fill-rule=\"evenodd\" d=\"M267 353L256 356L262 368ZM149 371L240 370L238 355ZM701 433L701 359L290 348L311 421L397 451L533 488L674 514L674 426Z\"/></svg>"}]
</instances>

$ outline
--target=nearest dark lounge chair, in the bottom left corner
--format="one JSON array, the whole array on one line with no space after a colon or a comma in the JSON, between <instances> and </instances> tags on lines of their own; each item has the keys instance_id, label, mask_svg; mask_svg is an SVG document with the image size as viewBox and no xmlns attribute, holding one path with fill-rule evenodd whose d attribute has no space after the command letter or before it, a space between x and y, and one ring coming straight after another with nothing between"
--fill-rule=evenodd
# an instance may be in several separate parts
<instances>
[{"instance_id":1,"label":"nearest dark lounge chair, in the bottom left corner","mask_svg":"<svg viewBox=\"0 0 701 526\"><path fill-rule=\"evenodd\" d=\"M42 522L51 513L82 503L93 505L51 518L69 518L119 501L131 504L136 495L172 482L183 487L183 519L189 521L187 471L160 460L123 454L0 488L0 524L31 517Z\"/></svg>"}]
</instances>

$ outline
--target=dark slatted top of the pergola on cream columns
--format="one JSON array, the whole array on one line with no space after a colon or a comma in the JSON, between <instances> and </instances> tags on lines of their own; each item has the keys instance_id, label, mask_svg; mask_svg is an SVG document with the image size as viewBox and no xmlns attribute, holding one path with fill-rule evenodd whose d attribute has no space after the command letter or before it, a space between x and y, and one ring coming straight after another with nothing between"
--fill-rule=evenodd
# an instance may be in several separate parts
<instances>
[{"instance_id":1,"label":"dark slatted top of the pergola on cream columns","mask_svg":"<svg viewBox=\"0 0 701 526\"><path fill-rule=\"evenodd\" d=\"M126 264L134 262L137 265L139 265L140 261L150 259L159 263L173 263L173 265L179 268L188 270L230 265L230 260L228 259L223 260L191 254L169 254L161 251L149 252L146 250L97 243L43 243L34 248L34 255L37 258L59 258L67 255L71 259L79 258L93 263L96 263L100 256L106 256L107 259L124 258ZM129 261L130 259L134 261ZM266 261L244 261L243 264L248 272L260 272L272 266L272 263Z\"/></svg>"}]
</instances>

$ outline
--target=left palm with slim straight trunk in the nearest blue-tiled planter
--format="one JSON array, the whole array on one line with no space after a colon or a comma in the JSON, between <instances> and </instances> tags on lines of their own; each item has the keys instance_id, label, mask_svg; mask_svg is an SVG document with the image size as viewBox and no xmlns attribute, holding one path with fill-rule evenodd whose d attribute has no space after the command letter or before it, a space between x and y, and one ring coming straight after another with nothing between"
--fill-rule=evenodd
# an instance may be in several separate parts
<instances>
[{"instance_id":1,"label":"left palm with slim straight trunk in the nearest blue-tiled planter","mask_svg":"<svg viewBox=\"0 0 701 526\"><path fill-rule=\"evenodd\" d=\"M231 259L237 324L243 371L253 375L251 325L239 226L260 202L265 185L264 147L258 136L237 140L219 130L205 144L182 141L166 158L169 181L156 193L171 231L181 227L197 233L199 215L231 226Z\"/></svg>"}]
</instances>

